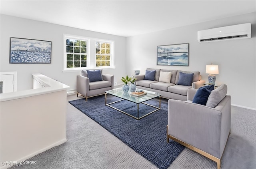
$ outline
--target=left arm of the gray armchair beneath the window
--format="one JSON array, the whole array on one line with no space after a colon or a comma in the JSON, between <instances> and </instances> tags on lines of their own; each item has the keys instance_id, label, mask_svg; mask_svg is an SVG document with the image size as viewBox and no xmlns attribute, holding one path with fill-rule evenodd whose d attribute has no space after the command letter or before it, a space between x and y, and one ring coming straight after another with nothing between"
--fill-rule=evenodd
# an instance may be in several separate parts
<instances>
[{"instance_id":1,"label":"left arm of the gray armchair beneath the window","mask_svg":"<svg viewBox=\"0 0 256 169\"><path fill-rule=\"evenodd\" d=\"M89 78L80 75L76 76L76 92L87 96L89 92Z\"/></svg>"}]
</instances>

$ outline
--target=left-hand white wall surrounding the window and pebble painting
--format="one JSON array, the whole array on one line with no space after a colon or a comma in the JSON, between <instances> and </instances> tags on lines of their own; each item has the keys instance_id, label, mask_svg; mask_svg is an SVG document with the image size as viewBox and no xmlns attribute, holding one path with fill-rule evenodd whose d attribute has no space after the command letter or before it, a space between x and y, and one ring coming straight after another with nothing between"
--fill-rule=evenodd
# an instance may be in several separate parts
<instances>
[{"instance_id":1,"label":"left-hand white wall surrounding the window and pebble painting","mask_svg":"<svg viewBox=\"0 0 256 169\"><path fill-rule=\"evenodd\" d=\"M68 22L68 21L67 21ZM46 22L17 18L0 14L0 72L17 71L17 90L32 89L33 73L41 73L54 80L76 89L78 72L62 72L63 70L63 34L114 40L115 69L103 70L104 74L114 74L114 82L121 83L126 68L123 61L126 57L126 38L110 34L102 34L88 30L60 26ZM52 41L51 64L9 64L10 37Z\"/></svg>"}]
</instances>

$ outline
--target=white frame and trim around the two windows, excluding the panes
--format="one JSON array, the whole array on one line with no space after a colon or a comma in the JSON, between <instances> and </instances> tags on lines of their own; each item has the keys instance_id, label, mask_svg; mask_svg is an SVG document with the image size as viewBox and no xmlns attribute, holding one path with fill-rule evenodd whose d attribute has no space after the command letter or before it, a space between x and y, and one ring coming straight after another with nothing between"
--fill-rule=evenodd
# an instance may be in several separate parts
<instances>
[{"instance_id":1,"label":"white frame and trim around the two windows, excluding the panes","mask_svg":"<svg viewBox=\"0 0 256 169\"><path fill-rule=\"evenodd\" d=\"M77 40L86 40L87 44L87 64L86 67L82 68L67 68L66 60L66 39L77 39ZM110 66L98 66L96 67L96 42L106 42L110 43ZM83 36L76 36L70 34L63 34L63 45L64 45L64 62L63 62L63 72L78 72L80 70L88 69L113 69L114 67L114 41L113 40L104 40L97 38L88 38Z\"/></svg>"}]
</instances>

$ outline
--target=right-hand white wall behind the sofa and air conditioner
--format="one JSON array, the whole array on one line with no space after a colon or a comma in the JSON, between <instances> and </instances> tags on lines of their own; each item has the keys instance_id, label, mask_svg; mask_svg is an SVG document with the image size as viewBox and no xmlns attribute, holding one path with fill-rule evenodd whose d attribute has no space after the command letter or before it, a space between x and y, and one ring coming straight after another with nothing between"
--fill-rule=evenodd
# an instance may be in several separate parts
<instances>
[{"instance_id":1,"label":"right-hand white wall behind the sofa and air conditioner","mask_svg":"<svg viewBox=\"0 0 256 169\"><path fill-rule=\"evenodd\" d=\"M243 23L252 24L252 38L210 43L197 41L198 30ZM140 68L141 74L146 68L200 71L202 79L208 82L206 64L216 64L219 65L216 84L228 86L232 104L256 108L256 12L132 36L127 38L126 43L128 74L133 74L137 68ZM189 43L188 67L156 65L157 46L181 43Z\"/></svg>"}]
</instances>

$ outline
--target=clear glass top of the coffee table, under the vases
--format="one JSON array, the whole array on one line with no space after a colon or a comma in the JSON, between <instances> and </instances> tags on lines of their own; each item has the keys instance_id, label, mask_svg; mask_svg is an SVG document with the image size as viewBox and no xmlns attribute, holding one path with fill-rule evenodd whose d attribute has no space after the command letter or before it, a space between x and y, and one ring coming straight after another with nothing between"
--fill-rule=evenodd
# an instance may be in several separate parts
<instances>
[{"instance_id":1,"label":"clear glass top of the coffee table, under the vases","mask_svg":"<svg viewBox=\"0 0 256 169\"><path fill-rule=\"evenodd\" d=\"M120 88L116 88L116 89L112 89L112 90L108 90L106 91L106 93L110 94L110 95L114 95L116 97L128 100L128 101L132 101L134 103L142 103L144 101L148 101L150 99L154 99L156 97L161 96L160 93L156 93L153 91L147 91L147 90L143 90L144 92L146 92L146 95L142 95L142 96L134 96L131 95L131 92L124 92L122 87Z\"/></svg>"}]
</instances>

